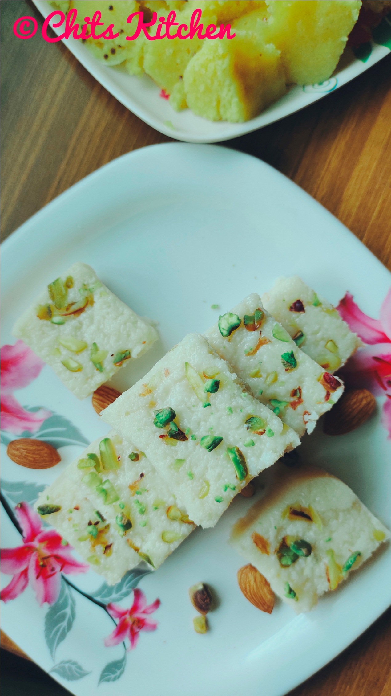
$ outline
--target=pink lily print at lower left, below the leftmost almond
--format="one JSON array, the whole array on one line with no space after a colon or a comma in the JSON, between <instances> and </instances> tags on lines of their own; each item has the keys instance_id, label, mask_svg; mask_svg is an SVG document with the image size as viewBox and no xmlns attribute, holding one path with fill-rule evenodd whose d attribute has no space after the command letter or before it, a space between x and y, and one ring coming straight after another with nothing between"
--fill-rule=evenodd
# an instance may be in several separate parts
<instances>
[{"instance_id":1,"label":"pink lily print at lower left, below the leftmost almond","mask_svg":"<svg viewBox=\"0 0 391 696\"><path fill-rule=\"evenodd\" d=\"M1 549L1 572L13 579L1 590L0 599L16 599L30 583L40 606L54 604L60 594L61 573L85 573L89 567L72 558L72 546L55 530L42 530L40 516L27 503L18 503L15 514L23 546Z\"/></svg>"}]
</instances>

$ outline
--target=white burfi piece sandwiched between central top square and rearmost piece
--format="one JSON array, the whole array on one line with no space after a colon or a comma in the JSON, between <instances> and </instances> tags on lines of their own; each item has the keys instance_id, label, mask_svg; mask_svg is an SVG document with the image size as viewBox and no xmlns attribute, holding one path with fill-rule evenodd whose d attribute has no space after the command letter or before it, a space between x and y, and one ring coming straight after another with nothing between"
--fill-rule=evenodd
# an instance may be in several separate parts
<instances>
[{"instance_id":1,"label":"white burfi piece sandwiched between central top square and rearmost piece","mask_svg":"<svg viewBox=\"0 0 391 696\"><path fill-rule=\"evenodd\" d=\"M340 398L340 380L325 372L294 343L253 293L218 319L205 334L250 387L299 437Z\"/></svg>"}]
</instances>

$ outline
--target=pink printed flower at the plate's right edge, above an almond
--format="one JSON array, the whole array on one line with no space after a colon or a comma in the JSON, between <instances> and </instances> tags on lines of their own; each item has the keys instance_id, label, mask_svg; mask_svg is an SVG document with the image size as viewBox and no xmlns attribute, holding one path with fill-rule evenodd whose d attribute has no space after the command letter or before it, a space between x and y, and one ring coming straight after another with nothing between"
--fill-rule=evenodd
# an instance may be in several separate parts
<instances>
[{"instance_id":1,"label":"pink printed flower at the plate's right edge, above an almond","mask_svg":"<svg viewBox=\"0 0 391 696\"><path fill-rule=\"evenodd\" d=\"M367 387L374 395L385 396L382 424L391 439L391 289L383 301L379 319L363 313L349 292L337 310L349 329L367 344L344 367L344 381L347 386Z\"/></svg>"}]
</instances>

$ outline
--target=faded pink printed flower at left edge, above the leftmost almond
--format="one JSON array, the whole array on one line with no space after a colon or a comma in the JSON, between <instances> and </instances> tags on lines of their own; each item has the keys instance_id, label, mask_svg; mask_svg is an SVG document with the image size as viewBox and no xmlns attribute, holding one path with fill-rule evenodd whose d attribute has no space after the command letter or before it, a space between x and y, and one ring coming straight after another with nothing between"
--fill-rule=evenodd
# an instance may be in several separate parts
<instances>
[{"instance_id":1,"label":"faded pink printed flower at left edge, above the leftmost almond","mask_svg":"<svg viewBox=\"0 0 391 696\"><path fill-rule=\"evenodd\" d=\"M14 435L21 435L24 430L35 433L51 412L47 409L26 411L13 396L13 391L28 386L38 377L45 363L20 340L13 346L3 346L0 357L1 429Z\"/></svg>"}]
</instances>

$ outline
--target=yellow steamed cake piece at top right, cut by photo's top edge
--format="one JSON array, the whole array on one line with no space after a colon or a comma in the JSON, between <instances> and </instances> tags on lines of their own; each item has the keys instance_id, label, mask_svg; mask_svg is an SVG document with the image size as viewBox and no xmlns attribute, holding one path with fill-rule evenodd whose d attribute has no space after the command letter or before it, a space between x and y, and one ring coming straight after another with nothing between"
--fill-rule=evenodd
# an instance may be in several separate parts
<instances>
[{"instance_id":1,"label":"yellow steamed cake piece at top right, cut by photo's top edge","mask_svg":"<svg viewBox=\"0 0 391 696\"><path fill-rule=\"evenodd\" d=\"M268 41L281 52L287 82L324 82L340 59L360 12L356 0L266 0Z\"/></svg>"}]
</instances>

